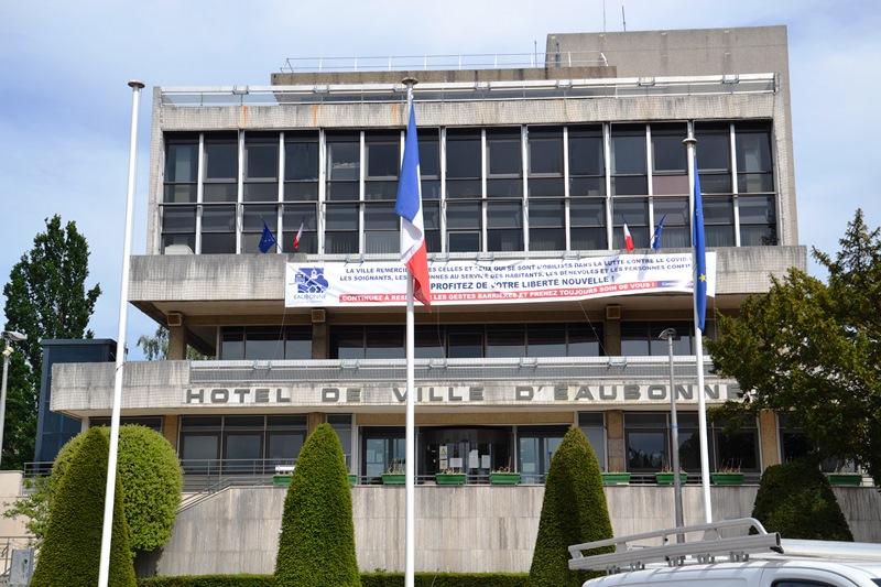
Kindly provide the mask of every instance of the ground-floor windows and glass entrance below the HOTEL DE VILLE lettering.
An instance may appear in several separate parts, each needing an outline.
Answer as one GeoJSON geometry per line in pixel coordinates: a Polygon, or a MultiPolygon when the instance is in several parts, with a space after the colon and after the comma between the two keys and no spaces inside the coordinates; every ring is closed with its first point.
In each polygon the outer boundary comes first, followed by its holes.
{"type": "MultiPolygon", "coordinates": [[[[379,482],[383,472],[403,469],[404,428],[361,426],[356,441],[350,414],[329,414],[327,422],[342,445],[347,466],[366,482],[379,482]],[[358,443],[359,446],[355,446],[358,443]],[[360,467],[351,468],[352,450],[360,467]]],[[[160,417],[122,418],[123,424],[141,424],[161,430],[160,417]]],[[[687,472],[700,470],[698,416],[679,412],[679,464],[687,472]]],[[[90,425],[109,425],[109,418],[93,418],[90,425]]],[[[607,468],[606,422],[602,413],[578,414],[578,426],[590,442],[600,467],[607,468]]],[[[628,412],[624,414],[627,470],[655,472],[668,467],[672,458],[670,413],[628,412]]],[[[523,482],[541,482],[551,458],[566,434],[567,426],[420,426],[417,474],[422,477],[457,468],[475,477],[513,466],[523,482]]],[[[780,418],[781,456],[784,461],[811,450],[802,431],[780,418]]],[[[307,436],[306,415],[182,416],[178,456],[187,474],[269,475],[278,465],[293,464],[307,436]]],[[[724,422],[708,423],[710,467],[737,467],[744,472],[760,471],[759,428],[754,421],[736,431],[724,422]]],[[[831,468],[829,468],[831,470],[831,468]]]]}

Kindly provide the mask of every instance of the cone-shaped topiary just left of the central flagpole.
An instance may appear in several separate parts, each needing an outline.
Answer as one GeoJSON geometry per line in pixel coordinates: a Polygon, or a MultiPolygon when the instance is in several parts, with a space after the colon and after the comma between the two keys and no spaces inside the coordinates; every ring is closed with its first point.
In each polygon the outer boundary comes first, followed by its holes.
{"type": "Polygon", "coordinates": [[[273,585],[361,585],[349,474],[329,424],[309,435],[291,475],[273,585]]]}

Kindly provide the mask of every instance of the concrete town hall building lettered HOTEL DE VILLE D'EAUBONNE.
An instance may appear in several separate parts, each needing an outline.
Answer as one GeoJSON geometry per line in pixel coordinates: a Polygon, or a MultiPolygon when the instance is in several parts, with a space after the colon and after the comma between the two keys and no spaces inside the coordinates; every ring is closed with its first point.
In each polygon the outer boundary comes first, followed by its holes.
{"type": "MultiPolygon", "coordinates": [[[[403,492],[379,486],[404,456],[394,199],[409,113],[402,80],[412,77],[436,296],[431,313],[416,312],[421,502],[467,515],[479,489],[481,500],[512,500],[490,511],[515,526],[513,504],[540,500],[570,426],[603,470],[631,472],[619,503],[628,491],[643,499],[671,463],[674,390],[681,461],[687,485],[698,482],[683,141],[697,140],[715,269],[706,335],[715,336],[714,312],[736,313],[773,275],[806,269],[787,61],[784,26],[552,34],[530,66],[426,59],[394,70],[292,69],[265,87],[153,88],[146,252],[131,258],[129,300],[167,326],[168,360],[127,363],[123,422],[161,430],[194,490],[269,478],[330,423],[358,477],[362,567],[401,568],[402,558],[365,553],[383,540],[368,526],[384,498],[403,503],[403,492]],[[261,253],[264,226],[279,246],[261,253]],[[672,361],[659,338],[667,328],[677,334],[672,361]],[[213,359],[185,360],[187,346],[213,359]],[[521,486],[490,486],[500,468],[520,472],[521,486]],[[440,504],[429,493],[449,469],[486,487],[445,489],[440,504]]],[[[705,359],[708,405],[738,398],[737,382],[709,367],[705,359]]],[[[54,411],[84,426],[107,422],[111,365],[53,372],[54,411]]],[[[722,424],[709,423],[710,466],[736,464],[748,480],[801,446],[774,414],[736,433],[722,424]]],[[[476,569],[448,555],[460,539],[440,540],[439,558],[420,568],[476,569]]],[[[508,567],[486,561],[479,569],[508,567]]]]}

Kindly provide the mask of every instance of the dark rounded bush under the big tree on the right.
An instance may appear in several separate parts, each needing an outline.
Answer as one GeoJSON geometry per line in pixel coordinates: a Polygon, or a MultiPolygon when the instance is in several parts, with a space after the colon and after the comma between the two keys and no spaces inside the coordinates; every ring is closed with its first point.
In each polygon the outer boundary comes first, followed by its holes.
{"type": "Polygon", "coordinates": [[[829,480],[811,460],[768,467],[752,517],[784,539],[853,541],[829,480]]]}

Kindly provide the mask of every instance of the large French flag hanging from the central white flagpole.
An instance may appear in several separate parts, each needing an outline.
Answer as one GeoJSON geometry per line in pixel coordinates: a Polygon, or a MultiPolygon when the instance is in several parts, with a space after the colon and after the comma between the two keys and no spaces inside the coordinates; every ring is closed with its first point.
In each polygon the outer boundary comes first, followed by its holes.
{"type": "Polygon", "coordinates": [[[416,111],[412,104],[394,211],[401,217],[401,260],[413,275],[413,297],[422,302],[425,307],[431,308],[428,257],[425,252],[425,228],[422,221],[420,146],[416,135],[416,111]]]}

